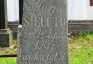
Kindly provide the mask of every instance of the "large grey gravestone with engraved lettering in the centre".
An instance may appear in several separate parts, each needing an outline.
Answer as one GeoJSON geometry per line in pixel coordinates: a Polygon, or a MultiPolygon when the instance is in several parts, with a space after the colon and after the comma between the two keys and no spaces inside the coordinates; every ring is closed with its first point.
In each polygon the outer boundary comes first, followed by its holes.
{"type": "Polygon", "coordinates": [[[68,64],[66,0],[24,0],[18,64],[68,64]]]}

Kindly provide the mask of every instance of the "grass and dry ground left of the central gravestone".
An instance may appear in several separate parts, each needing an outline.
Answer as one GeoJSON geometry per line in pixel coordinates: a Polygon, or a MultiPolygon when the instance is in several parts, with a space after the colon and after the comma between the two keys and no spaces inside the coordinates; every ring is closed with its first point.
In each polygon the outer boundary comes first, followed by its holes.
{"type": "MultiPolygon", "coordinates": [[[[0,48],[0,55],[16,54],[17,53],[17,40],[13,40],[13,45],[10,48],[0,48]]],[[[0,58],[0,64],[17,64],[16,58],[0,58]]]]}

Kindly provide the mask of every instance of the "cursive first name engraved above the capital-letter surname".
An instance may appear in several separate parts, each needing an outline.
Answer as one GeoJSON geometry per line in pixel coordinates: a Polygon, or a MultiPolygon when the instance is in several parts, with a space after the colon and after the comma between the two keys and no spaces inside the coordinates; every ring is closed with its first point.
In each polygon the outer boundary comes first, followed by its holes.
{"type": "MultiPolygon", "coordinates": [[[[24,8],[26,8],[26,10],[29,10],[29,12],[32,12],[33,14],[35,14],[38,11],[38,12],[48,13],[50,16],[52,16],[56,12],[61,13],[62,9],[64,8],[64,4],[62,3],[54,6],[52,4],[49,5],[42,4],[43,2],[44,0],[38,0],[37,2],[33,2],[33,3],[29,2],[29,4],[24,3],[24,8]]],[[[44,13],[40,13],[40,14],[44,14],[44,13]]]]}

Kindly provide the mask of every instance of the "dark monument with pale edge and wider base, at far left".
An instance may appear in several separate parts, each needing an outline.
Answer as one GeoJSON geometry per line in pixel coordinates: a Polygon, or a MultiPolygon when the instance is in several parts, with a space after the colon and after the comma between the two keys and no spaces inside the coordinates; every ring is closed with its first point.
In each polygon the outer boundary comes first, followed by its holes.
{"type": "Polygon", "coordinates": [[[0,1],[0,47],[9,47],[12,43],[12,32],[7,24],[6,0],[0,1]]]}

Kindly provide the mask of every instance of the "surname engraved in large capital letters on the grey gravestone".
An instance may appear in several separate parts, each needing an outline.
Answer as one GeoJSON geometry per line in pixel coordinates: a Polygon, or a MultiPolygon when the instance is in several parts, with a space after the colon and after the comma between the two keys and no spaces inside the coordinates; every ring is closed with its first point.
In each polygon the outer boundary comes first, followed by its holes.
{"type": "Polygon", "coordinates": [[[24,21],[23,26],[25,27],[62,27],[65,25],[66,19],[57,17],[26,17],[24,21]]]}

